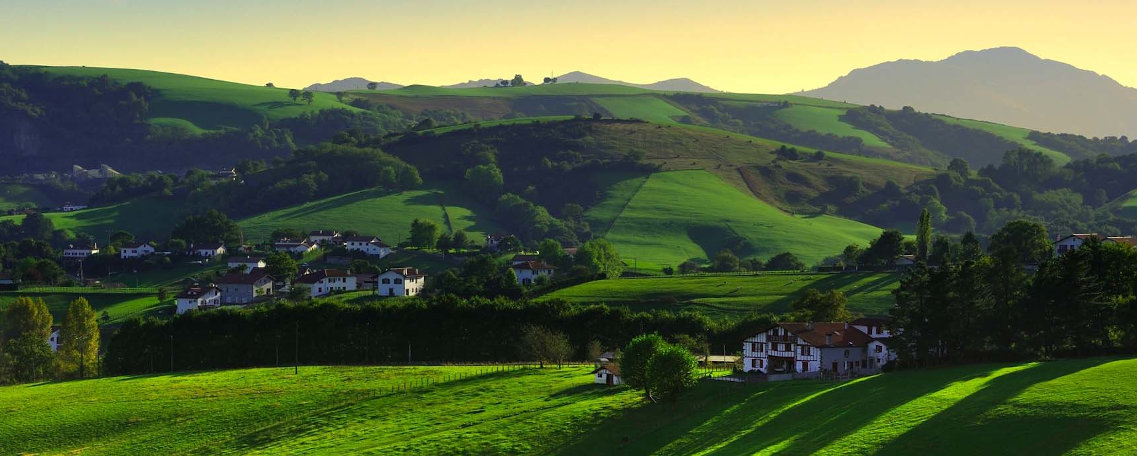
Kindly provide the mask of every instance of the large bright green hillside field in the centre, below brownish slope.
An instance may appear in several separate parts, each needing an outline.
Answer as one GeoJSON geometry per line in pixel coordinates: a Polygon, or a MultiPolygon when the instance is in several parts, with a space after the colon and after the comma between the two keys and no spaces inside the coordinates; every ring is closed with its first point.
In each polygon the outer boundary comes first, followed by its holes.
{"type": "Polygon", "coordinates": [[[794,216],[742,193],[705,171],[656,173],[614,222],[590,214],[620,255],[641,270],[706,262],[730,239],[748,241],[737,254],[769,258],[790,251],[807,264],[866,244],[880,229],[833,216],[794,216]]]}

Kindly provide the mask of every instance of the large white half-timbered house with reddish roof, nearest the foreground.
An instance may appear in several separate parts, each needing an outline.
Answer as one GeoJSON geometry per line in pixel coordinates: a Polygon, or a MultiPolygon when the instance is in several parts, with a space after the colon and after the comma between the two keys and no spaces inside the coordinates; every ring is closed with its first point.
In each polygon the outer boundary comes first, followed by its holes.
{"type": "Polygon", "coordinates": [[[742,371],[770,380],[878,373],[896,358],[886,342],[890,334],[869,335],[860,328],[882,326],[869,320],[858,323],[779,323],[742,342],[742,371]]]}

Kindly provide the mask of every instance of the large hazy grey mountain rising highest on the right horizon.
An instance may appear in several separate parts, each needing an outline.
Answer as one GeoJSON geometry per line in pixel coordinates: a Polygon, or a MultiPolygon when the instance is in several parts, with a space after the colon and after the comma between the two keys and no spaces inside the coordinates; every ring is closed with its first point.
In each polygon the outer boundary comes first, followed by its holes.
{"type": "Polygon", "coordinates": [[[1137,89],[1019,48],[883,63],[803,94],[1048,132],[1137,136],[1137,89]]]}

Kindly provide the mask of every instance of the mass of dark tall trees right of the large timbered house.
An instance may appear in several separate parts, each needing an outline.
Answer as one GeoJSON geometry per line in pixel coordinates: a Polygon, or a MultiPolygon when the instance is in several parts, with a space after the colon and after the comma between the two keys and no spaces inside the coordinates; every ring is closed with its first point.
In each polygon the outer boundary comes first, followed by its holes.
{"type": "Polygon", "coordinates": [[[894,342],[911,363],[1137,349],[1137,249],[1090,240],[1054,257],[1028,221],[996,232],[986,255],[918,264],[895,295],[894,342]]]}

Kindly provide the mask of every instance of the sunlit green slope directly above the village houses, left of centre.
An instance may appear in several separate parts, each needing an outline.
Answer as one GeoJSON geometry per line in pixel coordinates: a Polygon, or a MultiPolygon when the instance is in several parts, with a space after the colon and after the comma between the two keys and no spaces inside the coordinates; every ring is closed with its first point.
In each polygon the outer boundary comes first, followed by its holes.
{"type": "Polygon", "coordinates": [[[246,237],[267,241],[273,230],[355,230],[374,234],[396,244],[409,238],[410,222],[431,219],[455,231],[465,230],[480,241],[487,232],[500,231],[483,214],[485,209],[449,188],[434,186],[389,194],[380,190],[362,190],[325,198],[300,206],[273,210],[239,222],[246,237]]]}

